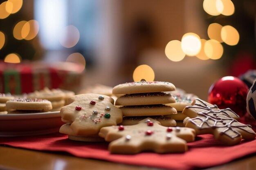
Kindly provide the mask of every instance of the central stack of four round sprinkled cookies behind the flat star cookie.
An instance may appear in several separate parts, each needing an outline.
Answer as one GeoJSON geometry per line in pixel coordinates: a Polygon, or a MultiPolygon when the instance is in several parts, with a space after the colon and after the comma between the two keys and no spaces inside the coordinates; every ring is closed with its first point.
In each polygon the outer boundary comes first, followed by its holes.
{"type": "Polygon", "coordinates": [[[137,124],[142,119],[152,117],[163,126],[176,126],[175,120],[166,116],[176,114],[176,109],[165,105],[175,103],[175,98],[165,91],[175,91],[175,86],[169,82],[146,82],[144,79],[115,86],[113,94],[125,94],[115,102],[124,115],[121,124],[137,124]]]}

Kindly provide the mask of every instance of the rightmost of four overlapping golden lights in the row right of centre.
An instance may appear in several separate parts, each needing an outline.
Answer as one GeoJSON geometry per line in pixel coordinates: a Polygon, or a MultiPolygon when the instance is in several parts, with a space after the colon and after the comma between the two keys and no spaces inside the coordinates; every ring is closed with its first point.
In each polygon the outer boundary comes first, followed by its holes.
{"type": "Polygon", "coordinates": [[[216,40],[207,40],[204,44],[204,52],[210,59],[218,60],[223,54],[223,46],[216,40]]]}

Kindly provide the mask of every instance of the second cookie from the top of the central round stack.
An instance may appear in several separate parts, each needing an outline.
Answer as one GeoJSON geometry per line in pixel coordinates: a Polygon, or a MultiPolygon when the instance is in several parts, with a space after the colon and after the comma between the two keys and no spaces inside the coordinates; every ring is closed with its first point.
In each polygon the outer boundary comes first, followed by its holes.
{"type": "Polygon", "coordinates": [[[135,106],[135,105],[150,105],[150,104],[167,104],[175,103],[175,98],[171,94],[156,92],[156,93],[136,93],[126,94],[119,97],[115,105],[135,106]]]}

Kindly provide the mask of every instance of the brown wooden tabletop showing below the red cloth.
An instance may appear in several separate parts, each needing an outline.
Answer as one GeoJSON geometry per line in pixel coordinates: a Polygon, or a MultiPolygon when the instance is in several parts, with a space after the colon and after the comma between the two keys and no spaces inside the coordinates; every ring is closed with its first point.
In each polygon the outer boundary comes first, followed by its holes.
{"type": "MultiPolygon", "coordinates": [[[[232,154],[232,153],[231,153],[232,154]]],[[[0,146],[0,170],[158,170],[95,159],[63,152],[40,152],[0,146]]],[[[207,170],[255,170],[256,154],[207,170]]]]}

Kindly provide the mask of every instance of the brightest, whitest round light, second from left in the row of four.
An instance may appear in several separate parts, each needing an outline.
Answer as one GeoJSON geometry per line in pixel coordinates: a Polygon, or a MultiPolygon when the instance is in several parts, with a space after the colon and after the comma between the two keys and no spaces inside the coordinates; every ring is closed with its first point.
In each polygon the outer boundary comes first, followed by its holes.
{"type": "Polygon", "coordinates": [[[194,56],[201,49],[200,37],[195,33],[186,33],[181,40],[181,48],[186,55],[194,56]]]}

